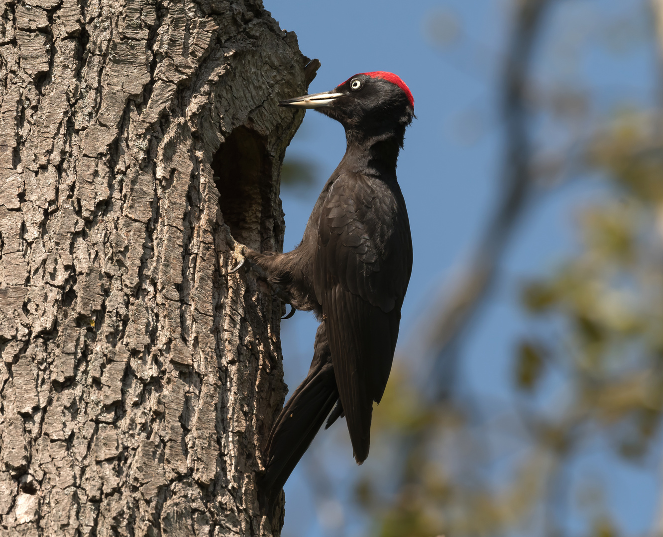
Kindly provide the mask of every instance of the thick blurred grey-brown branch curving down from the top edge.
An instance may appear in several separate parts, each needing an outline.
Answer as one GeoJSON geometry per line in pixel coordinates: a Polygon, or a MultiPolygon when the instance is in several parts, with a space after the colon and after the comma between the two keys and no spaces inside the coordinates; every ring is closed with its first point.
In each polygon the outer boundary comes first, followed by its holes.
{"type": "MultiPolygon", "coordinates": [[[[434,324],[432,350],[438,362],[455,360],[454,343],[479,309],[499,269],[507,244],[518,219],[530,199],[534,185],[532,177],[532,148],[528,136],[527,88],[530,60],[539,30],[551,0],[522,0],[516,2],[514,28],[502,83],[502,117],[505,124],[505,158],[501,172],[501,189],[495,213],[479,240],[471,261],[453,282],[450,296],[440,309],[434,324]]],[[[442,366],[444,379],[436,375],[434,381],[442,383],[438,397],[446,395],[452,384],[454,367],[442,366]],[[451,373],[451,374],[450,374],[451,373]]]]}

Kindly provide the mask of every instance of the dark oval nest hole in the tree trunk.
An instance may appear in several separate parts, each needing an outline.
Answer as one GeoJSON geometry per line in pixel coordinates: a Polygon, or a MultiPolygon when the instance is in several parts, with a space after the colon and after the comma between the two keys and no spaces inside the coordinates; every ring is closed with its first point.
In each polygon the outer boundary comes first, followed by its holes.
{"type": "Polygon", "coordinates": [[[261,224],[264,209],[271,205],[272,189],[272,161],[265,138],[246,127],[235,128],[214,155],[211,169],[223,221],[235,240],[259,248],[267,236],[261,224]]]}

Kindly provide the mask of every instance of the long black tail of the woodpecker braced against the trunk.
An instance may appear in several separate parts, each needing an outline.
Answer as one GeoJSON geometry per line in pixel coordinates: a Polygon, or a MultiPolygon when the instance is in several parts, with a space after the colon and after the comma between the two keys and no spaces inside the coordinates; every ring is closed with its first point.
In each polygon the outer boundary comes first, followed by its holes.
{"type": "Polygon", "coordinates": [[[337,401],[329,344],[321,323],[308,375],[278,415],[267,441],[267,471],[260,487],[270,517],[283,485],[337,401]]]}

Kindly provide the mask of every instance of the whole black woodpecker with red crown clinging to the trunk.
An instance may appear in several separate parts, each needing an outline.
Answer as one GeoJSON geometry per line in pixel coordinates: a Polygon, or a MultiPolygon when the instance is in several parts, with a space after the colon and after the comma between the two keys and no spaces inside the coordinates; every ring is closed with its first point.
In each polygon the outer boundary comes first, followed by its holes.
{"type": "Polygon", "coordinates": [[[237,252],[284,289],[294,308],[320,320],[308,375],[269,435],[261,489],[270,506],[328,415],[327,427],[345,415],[355,460],[366,460],[373,401],[387,385],[412,271],[410,224],[396,181],[398,151],[414,117],[410,89],[393,73],[359,73],[332,91],[279,105],[341,122],[347,149],[299,246],[286,254],[237,252]]]}

